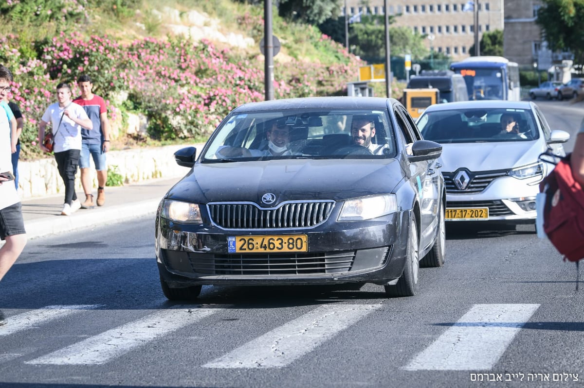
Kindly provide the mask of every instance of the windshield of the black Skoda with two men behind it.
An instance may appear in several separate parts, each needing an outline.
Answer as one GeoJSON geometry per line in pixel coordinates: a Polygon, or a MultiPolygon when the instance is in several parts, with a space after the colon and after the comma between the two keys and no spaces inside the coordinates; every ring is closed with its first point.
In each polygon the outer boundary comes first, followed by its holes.
{"type": "Polygon", "coordinates": [[[380,110],[239,111],[215,129],[200,160],[388,158],[395,156],[394,133],[380,110]]]}

